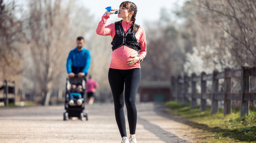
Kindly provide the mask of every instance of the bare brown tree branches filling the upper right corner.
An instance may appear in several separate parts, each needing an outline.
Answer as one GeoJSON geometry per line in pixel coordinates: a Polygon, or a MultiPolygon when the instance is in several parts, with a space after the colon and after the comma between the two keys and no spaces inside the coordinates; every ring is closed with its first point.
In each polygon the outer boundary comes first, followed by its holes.
{"type": "MultiPolygon", "coordinates": [[[[225,46],[231,46],[230,50],[235,57],[234,61],[238,65],[245,62],[251,66],[256,65],[255,0],[195,0],[192,4],[195,9],[204,11],[197,13],[197,16],[205,21],[212,21],[219,26],[216,29],[222,35],[214,39],[225,41],[225,46]]],[[[220,45],[220,47],[223,46],[220,45]]]]}

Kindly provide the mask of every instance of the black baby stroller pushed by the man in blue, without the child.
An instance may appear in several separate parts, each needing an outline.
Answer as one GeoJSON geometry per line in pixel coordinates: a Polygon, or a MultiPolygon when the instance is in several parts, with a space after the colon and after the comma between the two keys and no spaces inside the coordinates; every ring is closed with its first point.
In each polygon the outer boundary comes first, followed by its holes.
{"type": "Polygon", "coordinates": [[[69,78],[67,77],[66,79],[66,95],[65,95],[65,110],[66,112],[63,113],[64,120],[69,120],[72,117],[77,117],[81,120],[88,120],[88,114],[87,112],[84,113],[83,110],[85,108],[85,89],[86,89],[86,77],[78,77],[77,74],[75,74],[75,77],[69,78]],[[80,84],[82,85],[82,90],[80,90],[81,96],[82,96],[82,104],[78,105],[77,104],[77,99],[74,98],[74,105],[71,106],[69,105],[69,96],[70,93],[72,92],[71,90],[71,85],[77,85],[80,84]]]}

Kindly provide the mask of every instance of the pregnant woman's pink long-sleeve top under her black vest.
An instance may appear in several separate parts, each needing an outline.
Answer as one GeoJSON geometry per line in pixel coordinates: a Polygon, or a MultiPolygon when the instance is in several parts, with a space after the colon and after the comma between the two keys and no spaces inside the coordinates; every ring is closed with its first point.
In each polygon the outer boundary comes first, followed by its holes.
{"type": "MultiPolygon", "coordinates": [[[[115,23],[109,24],[107,26],[106,22],[109,19],[110,14],[105,13],[102,17],[101,17],[101,21],[98,24],[98,27],[96,29],[96,33],[98,35],[103,35],[103,36],[107,36],[110,35],[112,37],[112,39],[114,38],[115,34],[116,34],[116,28],[115,28],[115,23]]],[[[122,21],[122,27],[124,32],[126,33],[127,30],[132,26],[132,22],[125,22],[122,21]]],[[[119,70],[128,70],[128,69],[134,69],[134,68],[140,68],[140,64],[137,62],[132,66],[127,65],[127,60],[132,59],[131,56],[140,56],[143,60],[143,58],[146,56],[147,54],[147,48],[146,48],[146,37],[145,37],[145,31],[144,28],[139,26],[138,31],[135,34],[135,37],[137,39],[137,41],[139,42],[139,46],[140,46],[140,50],[139,50],[139,54],[136,50],[127,47],[125,45],[122,45],[120,47],[118,47],[117,49],[115,49],[112,52],[112,59],[111,59],[111,63],[110,63],[110,67],[111,69],[119,69],[119,70]]]]}

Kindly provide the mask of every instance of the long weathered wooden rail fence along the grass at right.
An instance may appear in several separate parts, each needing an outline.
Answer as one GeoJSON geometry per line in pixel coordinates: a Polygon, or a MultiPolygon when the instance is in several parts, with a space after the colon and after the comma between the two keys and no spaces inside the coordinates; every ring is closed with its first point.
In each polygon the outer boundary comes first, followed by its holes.
{"type": "Polygon", "coordinates": [[[223,72],[214,70],[212,74],[202,72],[200,76],[192,74],[191,77],[181,76],[172,77],[170,96],[171,99],[177,99],[177,102],[188,104],[191,98],[191,108],[197,106],[197,99],[200,99],[200,110],[206,110],[206,99],[211,99],[211,113],[218,112],[218,101],[224,101],[224,115],[231,113],[231,100],[241,101],[240,116],[248,115],[249,101],[256,100],[256,92],[250,92],[250,77],[256,75],[256,67],[249,67],[245,64],[241,69],[231,70],[225,68],[223,72]],[[241,91],[231,92],[231,78],[241,78],[241,91]],[[219,79],[224,79],[224,92],[219,92],[219,79]],[[206,92],[206,81],[212,82],[211,92],[206,92]],[[201,93],[197,92],[196,84],[200,83],[201,93]],[[190,92],[188,88],[190,87],[190,92]]]}

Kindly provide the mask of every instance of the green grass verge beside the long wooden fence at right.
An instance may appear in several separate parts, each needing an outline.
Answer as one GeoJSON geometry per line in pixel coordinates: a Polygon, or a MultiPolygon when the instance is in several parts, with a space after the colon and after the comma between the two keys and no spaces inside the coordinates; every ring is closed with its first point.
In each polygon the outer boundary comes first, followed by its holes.
{"type": "Polygon", "coordinates": [[[249,116],[240,119],[240,111],[224,116],[223,110],[211,114],[210,108],[200,112],[200,108],[191,109],[190,105],[182,105],[176,101],[166,102],[169,113],[185,118],[195,132],[197,143],[256,143],[256,112],[250,111],[249,116]]]}

